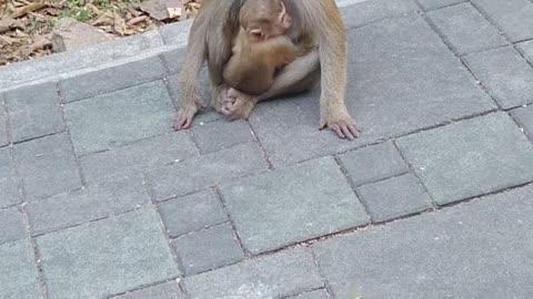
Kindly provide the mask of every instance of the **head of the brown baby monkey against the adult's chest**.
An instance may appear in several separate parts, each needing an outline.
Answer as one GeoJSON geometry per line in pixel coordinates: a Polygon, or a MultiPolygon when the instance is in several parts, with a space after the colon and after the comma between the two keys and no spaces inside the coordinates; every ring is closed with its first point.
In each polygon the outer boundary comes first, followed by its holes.
{"type": "Polygon", "coordinates": [[[239,14],[251,41],[282,35],[292,24],[282,0],[247,0],[239,14]]]}

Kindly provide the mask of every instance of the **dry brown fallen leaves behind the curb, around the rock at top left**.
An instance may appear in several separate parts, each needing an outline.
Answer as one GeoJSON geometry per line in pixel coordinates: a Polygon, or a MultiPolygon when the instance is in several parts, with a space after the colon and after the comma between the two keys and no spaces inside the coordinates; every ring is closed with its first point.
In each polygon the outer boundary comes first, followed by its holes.
{"type": "Polygon", "coordinates": [[[0,0],[0,65],[52,52],[51,32],[69,17],[113,37],[192,18],[201,0],[0,0]]]}

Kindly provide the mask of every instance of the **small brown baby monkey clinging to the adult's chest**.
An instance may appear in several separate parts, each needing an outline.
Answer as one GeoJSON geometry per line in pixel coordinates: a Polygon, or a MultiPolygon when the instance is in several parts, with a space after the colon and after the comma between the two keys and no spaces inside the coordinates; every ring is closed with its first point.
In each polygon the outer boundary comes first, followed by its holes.
{"type": "Polygon", "coordinates": [[[241,29],[234,38],[223,79],[240,92],[262,94],[272,86],[275,72],[303,51],[284,35],[292,18],[281,0],[247,0],[239,21],[241,29]]]}

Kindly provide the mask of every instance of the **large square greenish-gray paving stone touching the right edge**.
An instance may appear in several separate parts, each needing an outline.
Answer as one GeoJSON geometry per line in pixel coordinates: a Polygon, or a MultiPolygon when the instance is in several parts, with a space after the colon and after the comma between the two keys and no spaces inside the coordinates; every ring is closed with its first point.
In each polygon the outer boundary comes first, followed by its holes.
{"type": "Polygon", "coordinates": [[[398,141],[440,205],[533,181],[533,146],[505,113],[398,141]]]}

